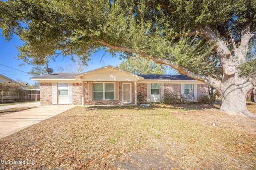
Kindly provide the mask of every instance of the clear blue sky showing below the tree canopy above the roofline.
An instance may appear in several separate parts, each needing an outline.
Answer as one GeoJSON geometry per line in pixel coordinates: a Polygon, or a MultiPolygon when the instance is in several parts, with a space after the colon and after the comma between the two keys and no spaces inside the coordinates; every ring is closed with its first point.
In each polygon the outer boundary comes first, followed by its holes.
{"type": "MultiPolygon", "coordinates": [[[[0,74],[3,74],[4,76],[13,80],[21,78],[23,81],[28,82],[30,85],[34,84],[34,80],[30,80],[31,75],[26,74],[26,72],[30,71],[32,66],[28,64],[25,64],[24,66],[18,66],[23,62],[17,59],[18,50],[16,49],[15,45],[22,45],[22,41],[18,39],[16,35],[14,35],[11,41],[5,43],[5,39],[2,37],[1,32],[2,30],[0,29],[0,74]]],[[[88,71],[107,65],[116,66],[122,62],[118,59],[118,57],[113,58],[106,54],[104,55],[103,62],[100,63],[103,54],[104,51],[100,51],[92,55],[92,60],[88,62],[88,71]]],[[[63,60],[63,57],[60,56],[56,59],[55,62],[50,62],[48,66],[54,69],[57,65],[65,66],[71,62],[72,61],[70,60],[70,57],[66,57],[63,60]]]]}

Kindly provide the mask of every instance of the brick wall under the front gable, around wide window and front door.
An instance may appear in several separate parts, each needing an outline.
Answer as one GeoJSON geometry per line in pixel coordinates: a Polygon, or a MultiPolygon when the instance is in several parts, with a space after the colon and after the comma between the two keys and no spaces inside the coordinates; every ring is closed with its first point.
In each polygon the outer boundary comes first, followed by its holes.
{"type": "MultiPolygon", "coordinates": [[[[112,82],[116,83],[116,82],[112,82]]],[[[84,84],[84,104],[85,105],[118,105],[122,103],[122,83],[131,83],[132,84],[132,103],[135,102],[134,96],[134,82],[118,82],[119,83],[119,99],[118,100],[88,100],[89,97],[89,86],[88,82],[84,84]]]]}

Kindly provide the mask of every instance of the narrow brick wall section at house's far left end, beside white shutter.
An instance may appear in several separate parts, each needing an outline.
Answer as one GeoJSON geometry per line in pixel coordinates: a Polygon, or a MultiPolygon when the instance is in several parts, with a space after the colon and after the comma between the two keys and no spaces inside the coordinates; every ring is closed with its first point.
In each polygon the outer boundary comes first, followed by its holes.
{"type": "Polygon", "coordinates": [[[40,105],[52,105],[52,83],[40,83],[40,105]]]}

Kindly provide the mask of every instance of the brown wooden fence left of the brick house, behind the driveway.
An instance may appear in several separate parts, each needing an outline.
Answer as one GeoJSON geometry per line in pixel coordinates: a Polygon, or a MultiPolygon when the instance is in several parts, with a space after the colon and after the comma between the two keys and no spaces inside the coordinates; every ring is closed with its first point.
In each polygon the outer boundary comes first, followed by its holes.
{"type": "Polygon", "coordinates": [[[19,102],[24,100],[40,101],[40,91],[0,89],[0,103],[19,102]]]}

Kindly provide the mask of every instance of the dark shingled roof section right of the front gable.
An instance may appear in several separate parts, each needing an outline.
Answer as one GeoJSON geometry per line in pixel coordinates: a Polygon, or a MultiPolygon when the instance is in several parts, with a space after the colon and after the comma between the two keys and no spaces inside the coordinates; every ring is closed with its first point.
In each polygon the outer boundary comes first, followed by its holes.
{"type": "Polygon", "coordinates": [[[145,80],[195,80],[186,75],[168,75],[168,74],[139,74],[145,80]]]}

